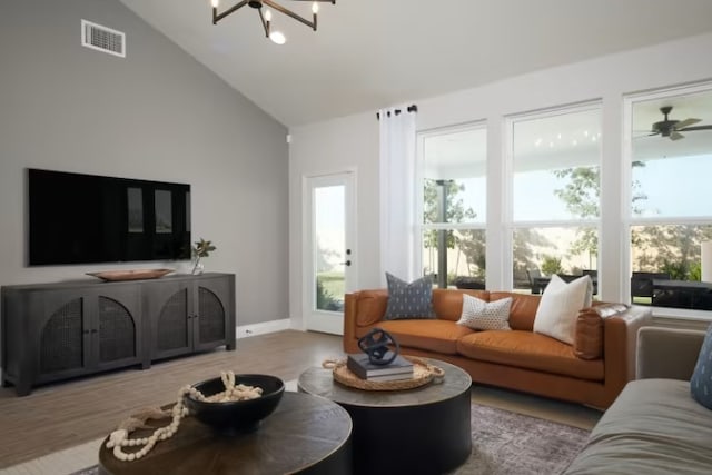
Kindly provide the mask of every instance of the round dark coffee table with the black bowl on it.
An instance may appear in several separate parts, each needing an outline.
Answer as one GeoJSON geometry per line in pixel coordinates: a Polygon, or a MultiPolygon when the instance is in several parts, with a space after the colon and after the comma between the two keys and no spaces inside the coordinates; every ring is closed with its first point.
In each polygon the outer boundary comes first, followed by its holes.
{"type": "Polygon", "coordinates": [[[337,404],[285,393],[277,409],[251,433],[224,436],[195,417],[186,417],[176,435],[136,462],[115,458],[105,439],[99,449],[99,473],[350,474],[350,417],[337,404]]]}

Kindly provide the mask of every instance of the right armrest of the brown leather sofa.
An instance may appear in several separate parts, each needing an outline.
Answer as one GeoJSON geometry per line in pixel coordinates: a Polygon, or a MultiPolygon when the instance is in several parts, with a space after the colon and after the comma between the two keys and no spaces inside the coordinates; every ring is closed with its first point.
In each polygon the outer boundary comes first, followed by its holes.
{"type": "Polygon", "coordinates": [[[651,325],[652,319],[651,309],[642,306],[632,306],[604,319],[604,385],[610,402],[635,378],[637,330],[651,325]]]}

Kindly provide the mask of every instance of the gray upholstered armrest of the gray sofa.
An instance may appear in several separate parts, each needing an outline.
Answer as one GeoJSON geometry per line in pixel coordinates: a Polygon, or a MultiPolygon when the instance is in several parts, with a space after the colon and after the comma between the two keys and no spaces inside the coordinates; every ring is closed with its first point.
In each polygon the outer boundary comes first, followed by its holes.
{"type": "Polygon", "coordinates": [[[704,331],[643,327],[637,334],[636,379],[690,380],[704,331]]]}

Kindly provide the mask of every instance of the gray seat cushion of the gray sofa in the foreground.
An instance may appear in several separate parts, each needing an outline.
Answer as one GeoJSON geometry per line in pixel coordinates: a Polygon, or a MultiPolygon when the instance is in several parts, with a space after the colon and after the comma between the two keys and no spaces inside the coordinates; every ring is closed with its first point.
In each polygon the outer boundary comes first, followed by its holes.
{"type": "Polygon", "coordinates": [[[629,383],[564,472],[573,474],[709,474],[712,413],[690,397],[688,382],[629,383]]]}

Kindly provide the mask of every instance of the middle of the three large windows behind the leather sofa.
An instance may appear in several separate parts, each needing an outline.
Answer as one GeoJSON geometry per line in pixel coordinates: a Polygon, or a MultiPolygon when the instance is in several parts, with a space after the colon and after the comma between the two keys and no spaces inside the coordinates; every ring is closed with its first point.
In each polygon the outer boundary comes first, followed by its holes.
{"type": "Polygon", "coordinates": [[[511,120],[512,285],[538,294],[553,274],[597,287],[599,105],[511,120]]]}

